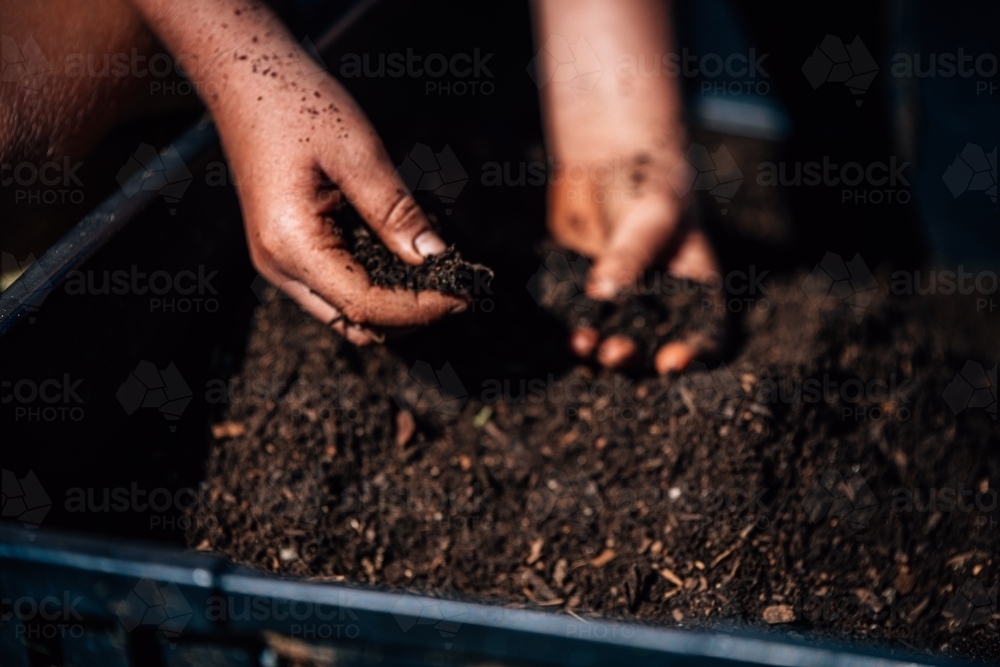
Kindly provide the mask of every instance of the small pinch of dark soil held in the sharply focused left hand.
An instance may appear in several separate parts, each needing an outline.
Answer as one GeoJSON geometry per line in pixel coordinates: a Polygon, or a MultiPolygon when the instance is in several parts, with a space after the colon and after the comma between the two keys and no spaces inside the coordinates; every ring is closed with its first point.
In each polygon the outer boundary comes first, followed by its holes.
{"type": "Polygon", "coordinates": [[[428,255],[419,266],[411,266],[363,225],[352,225],[344,234],[354,258],[365,267],[372,285],[377,287],[462,296],[489,287],[493,279],[492,269],[465,261],[454,245],[439,255],[428,255]]]}

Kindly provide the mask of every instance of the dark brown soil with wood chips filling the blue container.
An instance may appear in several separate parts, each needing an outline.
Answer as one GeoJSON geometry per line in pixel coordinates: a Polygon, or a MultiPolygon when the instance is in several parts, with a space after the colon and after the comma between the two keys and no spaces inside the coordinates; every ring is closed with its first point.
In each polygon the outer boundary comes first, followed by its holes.
{"type": "Polygon", "coordinates": [[[565,352],[521,279],[549,252],[508,258],[508,282],[491,261],[489,312],[386,347],[261,306],[189,543],[581,616],[1000,657],[995,412],[942,397],[993,368],[995,316],[890,295],[884,271],[859,315],[788,272],[725,364],[626,376],[565,352]]]}

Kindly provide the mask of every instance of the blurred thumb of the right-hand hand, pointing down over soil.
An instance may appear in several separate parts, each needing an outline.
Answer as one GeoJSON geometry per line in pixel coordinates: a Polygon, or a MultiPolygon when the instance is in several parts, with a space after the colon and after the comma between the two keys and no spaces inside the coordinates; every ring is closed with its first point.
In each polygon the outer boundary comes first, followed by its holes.
{"type": "Polygon", "coordinates": [[[637,199],[615,228],[591,269],[587,293],[612,299],[656,260],[677,230],[680,204],[663,195],[637,199]]]}

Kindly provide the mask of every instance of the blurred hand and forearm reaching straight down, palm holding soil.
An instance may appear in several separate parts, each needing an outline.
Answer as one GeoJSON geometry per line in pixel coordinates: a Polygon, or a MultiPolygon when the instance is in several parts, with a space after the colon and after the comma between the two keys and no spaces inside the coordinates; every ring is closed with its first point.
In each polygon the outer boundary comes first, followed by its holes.
{"type": "MultiPolygon", "coordinates": [[[[556,166],[549,228],[560,245],[593,259],[587,291],[596,299],[627,294],[649,269],[700,283],[718,269],[707,237],[685,215],[688,202],[672,185],[683,181],[678,170],[687,163],[677,82],[659,69],[672,48],[664,4],[536,3],[538,76],[556,166]],[[570,56],[573,68],[565,64],[570,56]]],[[[706,292],[705,304],[722,317],[718,297],[706,292]]],[[[596,330],[577,329],[570,345],[609,367],[637,361],[625,336],[601,340],[596,330]]],[[[720,346],[705,336],[668,342],[655,356],[656,370],[683,371],[720,346]]]]}

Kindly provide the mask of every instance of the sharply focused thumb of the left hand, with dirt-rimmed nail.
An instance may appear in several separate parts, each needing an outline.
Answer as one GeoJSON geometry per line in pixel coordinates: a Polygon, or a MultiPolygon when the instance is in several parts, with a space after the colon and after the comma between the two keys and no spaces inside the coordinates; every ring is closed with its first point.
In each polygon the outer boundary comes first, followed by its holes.
{"type": "MultiPolygon", "coordinates": [[[[363,117],[360,122],[368,125],[363,117]]],[[[438,255],[447,246],[431,229],[381,140],[374,130],[371,132],[365,141],[337,146],[321,160],[321,166],[328,174],[337,175],[338,187],[389,250],[407,264],[421,264],[425,257],[438,255]],[[345,151],[350,165],[346,169],[345,151]]]]}

